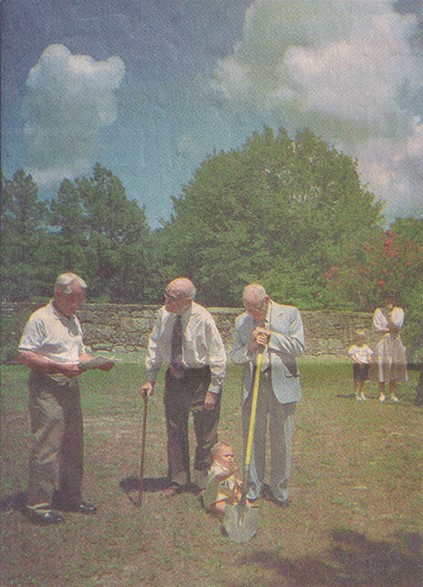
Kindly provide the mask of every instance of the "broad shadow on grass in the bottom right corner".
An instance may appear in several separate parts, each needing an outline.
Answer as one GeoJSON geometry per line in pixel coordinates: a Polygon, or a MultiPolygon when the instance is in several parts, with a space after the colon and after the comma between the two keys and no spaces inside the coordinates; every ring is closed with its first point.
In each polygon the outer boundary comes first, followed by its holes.
{"type": "Polygon", "coordinates": [[[263,576],[267,587],[421,587],[421,550],[422,537],[417,533],[376,542],[358,532],[334,530],[324,560],[310,556],[290,560],[259,551],[239,562],[271,571],[269,582],[263,576]]]}

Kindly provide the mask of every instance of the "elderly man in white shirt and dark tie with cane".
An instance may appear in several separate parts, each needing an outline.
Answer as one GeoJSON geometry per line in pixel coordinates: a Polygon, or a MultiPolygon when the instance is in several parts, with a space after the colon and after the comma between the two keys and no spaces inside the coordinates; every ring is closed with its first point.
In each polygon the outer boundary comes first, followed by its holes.
{"type": "Polygon", "coordinates": [[[163,494],[172,497],[186,490],[191,481],[190,413],[196,438],[195,482],[199,489],[205,487],[210,451],[217,442],[226,353],[213,317],[194,302],[195,287],[189,279],[180,277],[169,283],[165,298],[148,342],[147,381],[141,392],[153,394],[157,374],[165,364],[168,487],[163,494]]]}

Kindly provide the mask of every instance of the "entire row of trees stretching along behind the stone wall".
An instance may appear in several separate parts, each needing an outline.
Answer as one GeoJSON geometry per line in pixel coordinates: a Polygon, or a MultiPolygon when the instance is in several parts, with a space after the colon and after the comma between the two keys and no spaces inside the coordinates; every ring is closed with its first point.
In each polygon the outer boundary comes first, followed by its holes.
{"type": "Polygon", "coordinates": [[[3,300],[45,298],[63,271],[86,279],[91,300],[121,303],[159,303],[177,276],[216,306],[239,306],[252,281],[302,309],[371,310],[389,288],[421,328],[423,220],[386,230],[356,161],[308,130],[266,127],[213,152],[154,231],[99,163],[52,200],[23,170],[2,175],[2,196],[3,300]]]}

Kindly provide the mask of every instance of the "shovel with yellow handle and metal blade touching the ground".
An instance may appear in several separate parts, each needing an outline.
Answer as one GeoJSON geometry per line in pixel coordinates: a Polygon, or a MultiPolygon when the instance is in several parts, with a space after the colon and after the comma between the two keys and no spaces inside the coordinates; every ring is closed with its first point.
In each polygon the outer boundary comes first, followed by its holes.
{"type": "Polygon", "coordinates": [[[263,351],[257,355],[257,366],[254,377],[253,399],[251,403],[250,423],[248,428],[247,451],[245,454],[242,494],[239,503],[226,504],[223,527],[233,542],[248,542],[257,532],[260,521],[258,507],[247,505],[247,493],[251,484],[251,455],[253,452],[254,428],[256,424],[257,398],[260,385],[261,363],[263,351]]]}

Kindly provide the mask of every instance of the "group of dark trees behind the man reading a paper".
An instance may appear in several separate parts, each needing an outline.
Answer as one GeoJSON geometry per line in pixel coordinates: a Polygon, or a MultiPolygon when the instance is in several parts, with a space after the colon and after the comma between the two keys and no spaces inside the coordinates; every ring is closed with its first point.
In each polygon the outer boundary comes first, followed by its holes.
{"type": "Polygon", "coordinates": [[[97,164],[89,178],[65,179],[49,205],[31,176],[2,178],[2,298],[49,295],[58,273],[74,271],[93,297],[143,300],[150,272],[145,210],[97,164]]]}

